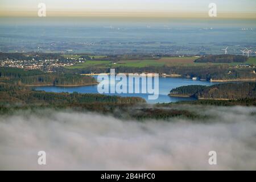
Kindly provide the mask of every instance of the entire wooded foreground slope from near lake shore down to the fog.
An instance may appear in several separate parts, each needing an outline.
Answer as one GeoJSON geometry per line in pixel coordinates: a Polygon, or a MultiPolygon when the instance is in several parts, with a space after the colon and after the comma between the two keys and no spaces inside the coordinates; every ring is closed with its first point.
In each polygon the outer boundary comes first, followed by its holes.
{"type": "Polygon", "coordinates": [[[169,119],[173,117],[203,119],[204,115],[188,110],[148,107],[139,97],[104,96],[100,94],[47,93],[24,86],[0,84],[0,114],[17,110],[42,109],[92,111],[123,119],[169,119]]]}

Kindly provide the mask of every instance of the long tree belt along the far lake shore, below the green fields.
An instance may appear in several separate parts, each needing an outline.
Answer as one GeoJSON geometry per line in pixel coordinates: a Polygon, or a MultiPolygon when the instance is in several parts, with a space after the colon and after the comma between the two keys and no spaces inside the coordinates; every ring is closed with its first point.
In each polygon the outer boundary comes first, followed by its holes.
{"type": "MultiPolygon", "coordinates": [[[[109,73],[110,68],[88,67],[82,69],[63,69],[61,72],[76,74],[76,73],[109,73]]],[[[172,67],[117,67],[116,73],[166,73],[167,75],[177,74],[181,77],[198,77],[208,80],[256,80],[256,74],[253,72],[255,68],[230,68],[229,65],[194,65],[194,66],[172,66],[172,67]]]]}

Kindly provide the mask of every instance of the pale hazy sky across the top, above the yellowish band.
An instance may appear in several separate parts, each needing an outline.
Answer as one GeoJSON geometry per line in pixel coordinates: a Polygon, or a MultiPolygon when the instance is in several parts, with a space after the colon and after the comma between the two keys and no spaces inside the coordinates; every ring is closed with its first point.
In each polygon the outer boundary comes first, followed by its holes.
{"type": "MultiPolygon", "coordinates": [[[[37,15],[38,3],[47,6],[47,12],[55,15],[94,14],[208,14],[209,3],[216,3],[220,13],[251,14],[256,11],[255,0],[1,0],[1,15],[37,15]],[[67,12],[68,11],[68,12],[67,12]],[[54,12],[54,13],[53,13],[54,12]]],[[[253,16],[253,15],[251,15],[253,16]]]]}

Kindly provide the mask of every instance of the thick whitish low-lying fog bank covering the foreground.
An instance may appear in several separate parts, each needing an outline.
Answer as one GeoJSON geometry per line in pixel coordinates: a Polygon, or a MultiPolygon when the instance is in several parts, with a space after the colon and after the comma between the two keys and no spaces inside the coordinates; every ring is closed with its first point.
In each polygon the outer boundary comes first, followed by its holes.
{"type": "Polygon", "coordinates": [[[121,121],[43,110],[0,116],[0,169],[256,169],[256,107],[209,107],[209,121],[121,121]],[[38,151],[46,151],[44,166],[38,151]],[[217,165],[208,163],[217,152],[217,165]]]}

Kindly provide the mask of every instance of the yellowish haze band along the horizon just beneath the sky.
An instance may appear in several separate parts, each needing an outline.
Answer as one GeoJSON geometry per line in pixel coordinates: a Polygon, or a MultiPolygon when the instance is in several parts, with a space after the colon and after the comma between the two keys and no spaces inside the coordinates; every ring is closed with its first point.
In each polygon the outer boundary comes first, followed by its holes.
{"type": "MultiPolygon", "coordinates": [[[[38,11],[1,11],[0,17],[38,17],[38,11]]],[[[228,18],[228,19],[256,19],[256,13],[241,12],[218,12],[217,17],[209,17],[208,12],[189,12],[189,13],[166,13],[166,12],[131,12],[131,11],[47,11],[47,17],[106,17],[106,18],[228,18]]]]}

